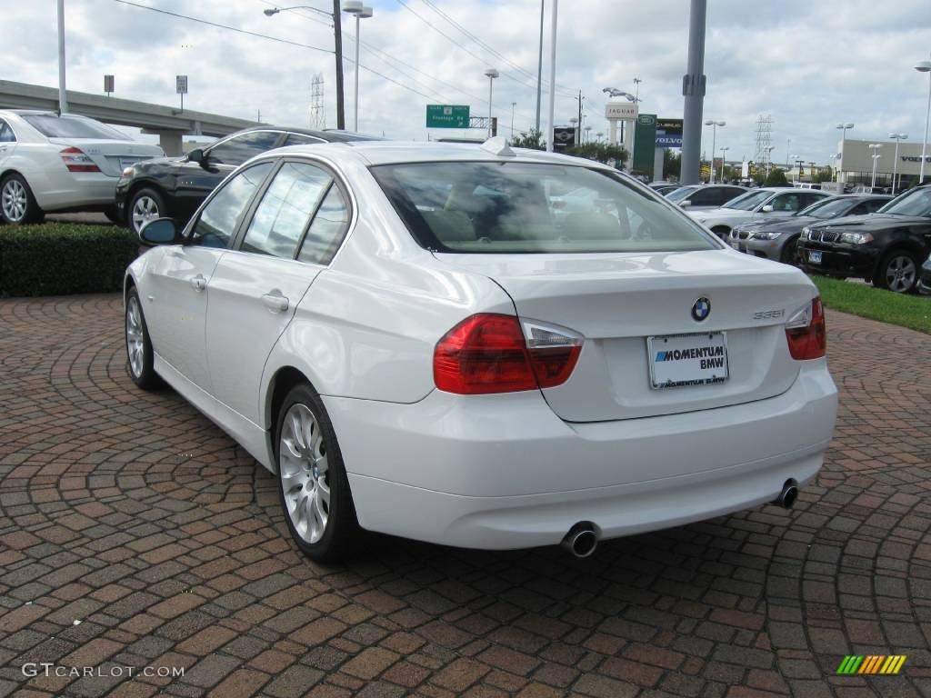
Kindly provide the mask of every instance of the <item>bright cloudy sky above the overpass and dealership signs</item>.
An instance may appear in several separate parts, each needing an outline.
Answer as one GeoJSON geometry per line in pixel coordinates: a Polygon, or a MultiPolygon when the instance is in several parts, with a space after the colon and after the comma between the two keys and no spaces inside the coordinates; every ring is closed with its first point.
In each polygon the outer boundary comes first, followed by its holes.
{"type": "MultiPolygon", "coordinates": [[[[333,34],[323,15],[295,10],[265,17],[272,0],[132,2],[307,47],[117,0],[65,0],[69,89],[101,92],[102,75],[110,73],[115,96],[175,104],[174,77],[188,74],[186,107],[252,119],[261,110],[263,122],[306,126],[310,83],[320,73],[327,126],[335,126],[333,34]]],[[[423,140],[427,103],[469,104],[472,114],[487,114],[488,67],[502,74],[493,98],[500,132],[509,132],[512,102],[515,130],[533,126],[540,0],[369,2],[374,17],[362,21],[359,130],[423,140]]],[[[331,0],[304,3],[332,8],[331,0]]],[[[0,6],[0,77],[57,86],[55,0],[0,0],[0,6]]],[[[563,0],[557,124],[575,114],[573,95],[581,89],[592,133],[607,131],[601,90],[632,91],[634,77],[643,81],[642,113],[681,116],[688,13],[688,0],[563,0]]],[[[355,27],[346,19],[351,124],[355,27]]],[[[753,156],[760,114],[772,115],[776,161],[788,148],[806,161],[827,162],[842,120],[856,123],[853,138],[887,141],[898,131],[921,141],[928,77],[912,66],[929,50],[927,0],[709,0],[705,118],[726,120],[717,144],[729,146],[729,158],[753,156]]],[[[706,128],[706,151],[710,135],[706,128]]]]}

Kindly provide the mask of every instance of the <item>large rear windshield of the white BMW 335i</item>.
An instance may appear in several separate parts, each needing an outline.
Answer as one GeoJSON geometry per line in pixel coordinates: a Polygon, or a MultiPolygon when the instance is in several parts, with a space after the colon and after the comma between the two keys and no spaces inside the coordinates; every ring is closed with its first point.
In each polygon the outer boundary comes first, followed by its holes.
{"type": "Polygon", "coordinates": [[[417,242],[440,252],[633,252],[719,246],[661,196],[596,169],[494,162],[371,168],[417,242]]]}

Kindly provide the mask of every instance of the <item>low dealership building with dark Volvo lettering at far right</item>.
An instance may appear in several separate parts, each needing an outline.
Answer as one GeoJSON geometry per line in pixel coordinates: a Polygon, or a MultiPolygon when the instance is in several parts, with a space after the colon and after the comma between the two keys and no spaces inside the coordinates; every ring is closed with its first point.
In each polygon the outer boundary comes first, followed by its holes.
{"type": "MultiPolygon", "coordinates": [[[[841,153],[841,143],[838,142],[838,153],[841,153]]],[[[897,185],[911,186],[918,182],[919,168],[922,162],[922,143],[901,141],[898,144],[898,158],[896,158],[896,141],[843,141],[843,157],[838,157],[834,165],[841,169],[848,184],[870,184],[872,181],[873,153],[879,154],[876,159],[876,186],[892,186],[892,173],[895,170],[897,185]],[[870,148],[870,145],[879,143],[880,148],[870,148]],[[901,182],[901,183],[899,183],[901,182]]],[[[924,181],[931,181],[931,145],[928,146],[924,157],[924,181]]]]}

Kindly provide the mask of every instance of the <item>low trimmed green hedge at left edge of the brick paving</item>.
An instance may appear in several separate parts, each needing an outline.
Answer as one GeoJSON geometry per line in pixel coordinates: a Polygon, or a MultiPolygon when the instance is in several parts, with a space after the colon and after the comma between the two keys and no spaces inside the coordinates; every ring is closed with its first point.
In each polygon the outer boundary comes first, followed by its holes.
{"type": "Polygon", "coordinates": [[[119,290],[139,247],[115,225],[0,225],[0,298],[119,290]]]}

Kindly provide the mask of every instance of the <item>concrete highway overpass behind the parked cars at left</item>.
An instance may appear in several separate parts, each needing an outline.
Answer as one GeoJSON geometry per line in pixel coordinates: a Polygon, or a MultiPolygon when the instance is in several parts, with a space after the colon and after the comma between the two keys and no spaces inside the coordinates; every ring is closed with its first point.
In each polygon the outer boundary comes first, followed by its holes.
{"type": "MultiPolygon", "coordinates": [[[[55,111],[59,106],[58,98],[58,89],[54,87],[0,80],[0,108],[55,111]]],[[[107,124],[142,128],[143,133],[156,134],[162,149],[169,155],[182,153],[183,135],[225,136],[256,124],[220,114],[187,109],[182,112],[162,104],[121,100],[71,89],[68,90],[68,111],[107,124]]]]}

